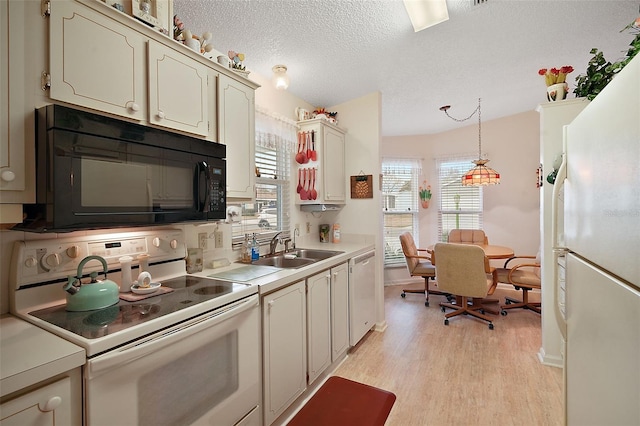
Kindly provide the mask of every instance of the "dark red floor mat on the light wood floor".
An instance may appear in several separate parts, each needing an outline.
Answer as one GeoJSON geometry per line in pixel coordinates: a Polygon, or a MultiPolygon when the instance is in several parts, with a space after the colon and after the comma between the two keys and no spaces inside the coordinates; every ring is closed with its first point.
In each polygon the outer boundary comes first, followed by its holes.
{"type": "Polygon", "coordinates": [[[329,377],[289,426],[384,425],[396,396],[342,377],[329,377]]]}

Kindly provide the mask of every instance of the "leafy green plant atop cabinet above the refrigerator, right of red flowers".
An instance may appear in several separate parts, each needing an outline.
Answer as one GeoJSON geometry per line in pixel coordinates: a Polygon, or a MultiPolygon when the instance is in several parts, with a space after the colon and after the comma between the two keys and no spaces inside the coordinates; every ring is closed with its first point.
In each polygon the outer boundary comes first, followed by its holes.
{"type": "Polygon", "coordinates": [[[589,53],[593,57],[589,60],[586,73],[576,77],[576,87],[573,90],[576,98],[586,97],[590,101],[593,100],[640,51],[640,18],[624,27],[620,32],[626,30],[631,30],[635,37],[629,44],[630,47],[626,55],[619,61],[609,62],[600,50],[595,47],[591,49],[589,53]]]}

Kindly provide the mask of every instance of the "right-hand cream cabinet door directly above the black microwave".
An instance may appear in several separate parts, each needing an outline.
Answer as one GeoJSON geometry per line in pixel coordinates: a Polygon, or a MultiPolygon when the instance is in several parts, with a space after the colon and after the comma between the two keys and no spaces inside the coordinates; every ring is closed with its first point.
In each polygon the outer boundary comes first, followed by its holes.
{"type": "Polygon", "coordinates": [[[207,136],[207,67],[154,40],[148,64],[149,122],[207,136]]]}

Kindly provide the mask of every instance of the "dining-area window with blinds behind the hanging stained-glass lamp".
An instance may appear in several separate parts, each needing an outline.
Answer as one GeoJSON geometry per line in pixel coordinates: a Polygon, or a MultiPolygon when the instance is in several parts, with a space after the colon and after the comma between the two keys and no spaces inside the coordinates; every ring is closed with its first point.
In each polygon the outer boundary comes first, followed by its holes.
{"type": "Polygon", "coordinates": [[[462,176],[473,167],[473,159],[469,156],[437,161],[440,241],[447,241],[452,229],[482,229],[482,187],[462,186],[462,176]]]}

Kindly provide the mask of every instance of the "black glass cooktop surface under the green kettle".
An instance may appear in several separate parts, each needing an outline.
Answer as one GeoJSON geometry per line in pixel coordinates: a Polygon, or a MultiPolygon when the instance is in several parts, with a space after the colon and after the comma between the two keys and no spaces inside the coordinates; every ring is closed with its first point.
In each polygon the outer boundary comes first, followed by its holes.
{"type": "Polygon", "coordinates": [[[161,284],[174,291],[137,302],[121,299],[115,305],[93,311],[69,312],[62,304],[29,315],[84,338],[96,339],[247,288],[246,284],[191,275],[164,280],[161,284]]]}

